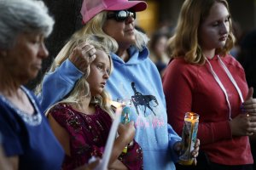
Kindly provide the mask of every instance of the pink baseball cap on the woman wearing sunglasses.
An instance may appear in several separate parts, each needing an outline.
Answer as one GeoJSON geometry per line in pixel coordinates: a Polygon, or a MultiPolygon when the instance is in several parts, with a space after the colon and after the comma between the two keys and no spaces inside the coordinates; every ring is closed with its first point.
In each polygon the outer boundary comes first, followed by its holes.
{"type": "Polygon", "coordinates": [[[147,8],[147,3],[144,1],[129,1],[129,0],[84,0],[81,8],[84,24],[99,14],[103,10],[123,10],[131,8],[135,12],[143,11],[147,8]]]}

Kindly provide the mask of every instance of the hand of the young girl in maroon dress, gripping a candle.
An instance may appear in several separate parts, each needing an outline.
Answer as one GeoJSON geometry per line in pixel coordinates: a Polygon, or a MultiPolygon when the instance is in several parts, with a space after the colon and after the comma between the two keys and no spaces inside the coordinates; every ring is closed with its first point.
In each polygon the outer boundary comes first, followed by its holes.
{"type": "Polygon", "coordinates": [[[128,122],[126,124],[119,124],[118,128],[119,138],[122,138],[126,144],[130,144],[135,137],[134,122],[128,122]]]}

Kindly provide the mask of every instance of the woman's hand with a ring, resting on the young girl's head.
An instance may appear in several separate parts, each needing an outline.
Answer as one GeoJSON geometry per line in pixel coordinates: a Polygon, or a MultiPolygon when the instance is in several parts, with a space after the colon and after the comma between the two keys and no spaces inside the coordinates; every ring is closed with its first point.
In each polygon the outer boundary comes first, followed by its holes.
{"type": "Polygon", "coordinates": [[[68,59],[75,65],[79,71],[86,72],[90,63],[96,59],[96,48],[87,42],[81,42],[69,55],[68,59]]]}

